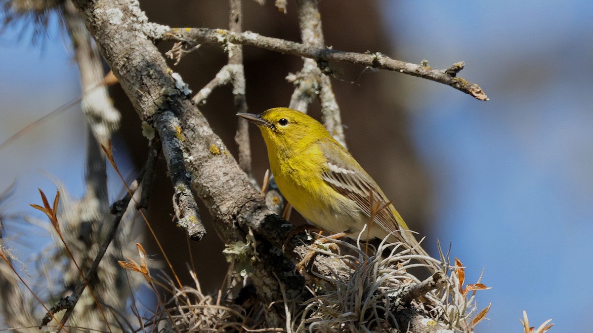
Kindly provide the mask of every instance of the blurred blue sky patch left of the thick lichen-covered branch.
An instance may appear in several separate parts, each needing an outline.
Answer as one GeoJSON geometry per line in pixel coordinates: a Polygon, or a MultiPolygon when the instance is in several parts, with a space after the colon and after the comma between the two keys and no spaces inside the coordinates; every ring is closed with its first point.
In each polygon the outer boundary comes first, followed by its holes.
{"type": "MultiPolygon", "coordinates": [[[[0,142],[79,97],[78,68],[66,53],[56,20],[50,21],[49,27],[47,39],[36,46],[31,45],[26,34],[18,39],[14,30],[0,35],[0,63],[4,64],[0,66],[0,142]]],[[[76,105],[0,151],[0,191],[15,182],[14,193],[2,205],[2,213],[25,212],[43,217],[28,203],[41,202],[37,188],[42,188],[48,197],[55,196],[52,177],[63,182],[75,196],[82,194],[84,145],[80,143],[85,142],[84,121],[76,105]]],[[[24,262],[30,256],[29,248],[38,248],[40,241],[49,242],[47,235],[36,237],[43,234],[37,228],[15,228],[8,223],[4,228],[9,236],[27,235],[13,243],[12,248],[13,254],[24,262]]]]}

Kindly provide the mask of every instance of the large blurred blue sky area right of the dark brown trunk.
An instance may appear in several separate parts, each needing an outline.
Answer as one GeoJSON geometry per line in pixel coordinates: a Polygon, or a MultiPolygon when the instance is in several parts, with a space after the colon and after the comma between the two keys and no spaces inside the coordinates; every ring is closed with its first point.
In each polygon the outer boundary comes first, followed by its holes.
{"type": "Polygon", "coordinates": [[[593,287],[593,3],[385,1],[398,58],[460,75],[490,101],[410,79],[410,120],[435,180],[433,238],[468,282],[485,267],[477,332],[553,318],[585,329],[593,287]],[[578,286],[578,287],[575,287],[578,286]],[[582,319],[579,319],[582,318],[582,319]]]}

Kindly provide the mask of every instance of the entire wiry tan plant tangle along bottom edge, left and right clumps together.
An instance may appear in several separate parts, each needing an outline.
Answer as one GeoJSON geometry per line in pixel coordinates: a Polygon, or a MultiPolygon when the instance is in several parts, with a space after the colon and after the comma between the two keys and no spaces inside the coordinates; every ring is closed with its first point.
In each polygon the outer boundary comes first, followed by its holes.
{"type": "MultiPolygon", "coordinates": [[[[401,251],[401,244],[382,242],[375,249],[361,242],[324,238],[324,244],[311,246],[311,251],[345,265],[340,265],[339,271],[332,270],[329,276],[301,272],[313,295],[305,303],[286,297],[282,290],[285,297],[278,303],[285,308],[286,327],[266,325],[269,305],[259,302],[254,292],[237,297],[237,289],[246,284],[235,283],[240,286],[220,290],[217,297],[212,297],[202,292],[192,273],[196,287],[179,289],[171,283],[166,310],[158,314],[158,331],[400,332],[420,323],[442,332],[471,332],[489,309],[474,315],[476,291],[488,288],[479,283],[462,287],[464,268],[458,260],[450,266],[442,252],[442,261],[423,257],[440,271],[421,281],[410,271],[418,271],[425,264],[416,262],[417,255],[401,251]],[[406,316],[409,319],[402,321],[406,316]]],[[[237,273],[229,271],[227,278],[233,280],[235,276],[237,273]]]]}

